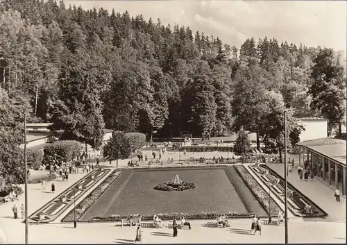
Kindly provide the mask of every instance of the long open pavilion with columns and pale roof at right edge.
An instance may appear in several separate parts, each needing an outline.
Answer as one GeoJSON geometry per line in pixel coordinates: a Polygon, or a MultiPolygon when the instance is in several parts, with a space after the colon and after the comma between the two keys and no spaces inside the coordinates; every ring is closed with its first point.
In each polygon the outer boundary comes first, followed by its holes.
{"type": "Polygon", "coordinates": [[[311,167],[316,178],[346,195],[346,140],[324,137],[296,146],[301,166],[311,167]]]}

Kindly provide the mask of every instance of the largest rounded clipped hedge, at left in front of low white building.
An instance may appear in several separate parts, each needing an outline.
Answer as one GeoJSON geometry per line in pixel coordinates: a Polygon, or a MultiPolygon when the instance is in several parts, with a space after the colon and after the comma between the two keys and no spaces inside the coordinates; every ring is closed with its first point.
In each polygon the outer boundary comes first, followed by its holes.
{"type": "Polygon", "coordinates": [[[70,162],[81,155],[82,145],[74,140],[57,141],[44,147],[44,163],[70,162]]]}

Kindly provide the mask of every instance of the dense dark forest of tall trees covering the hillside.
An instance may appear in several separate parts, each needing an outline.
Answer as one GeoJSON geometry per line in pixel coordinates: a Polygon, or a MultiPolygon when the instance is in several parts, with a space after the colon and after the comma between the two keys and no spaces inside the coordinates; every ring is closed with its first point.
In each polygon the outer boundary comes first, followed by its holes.
{"type": "Polygon", "coordinates": [[[249,38],[237,48],[128,12],[6,0],[0,3],[0,141],[22,141],[27,111],[29,122],[53,122],[52,130],[64,130],[62,139],[95,148],[103,128],[209,138],[243,126],[277,151],[285,110],[293,144],[302,130],[296,117],[327,118],[329,132],[341,133],[345,62],[333,49],[276,38],[249,38]]]}

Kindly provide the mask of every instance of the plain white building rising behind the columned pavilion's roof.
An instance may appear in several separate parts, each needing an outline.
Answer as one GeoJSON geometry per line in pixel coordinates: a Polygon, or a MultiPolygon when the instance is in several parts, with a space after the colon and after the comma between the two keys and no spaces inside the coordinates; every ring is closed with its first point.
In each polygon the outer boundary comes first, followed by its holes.
{"type": "Polygon", "coordinates": [[[328,137],[328,119],[319,117],[298,118],[305,130],[301,132],[300,142],[328,137]]]}

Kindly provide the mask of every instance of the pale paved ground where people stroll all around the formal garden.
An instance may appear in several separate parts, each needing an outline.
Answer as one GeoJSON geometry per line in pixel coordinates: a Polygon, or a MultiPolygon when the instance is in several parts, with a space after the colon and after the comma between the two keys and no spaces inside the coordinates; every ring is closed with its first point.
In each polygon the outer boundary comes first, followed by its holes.
{"type": "MultiPolygon", "coordinates": [[[[146,153],[146,151],[144,151],[146,153]]],[[[227,153],[194,153],[195,158],[204,155],[205,158],[216,158],[227,153]]],[[[231,155],[231,153],[229,153],[231,155]]],[[[151,151],[147,152],[151,156],[151,151]]],[[[174,158],[178,160],[178,153],[164,153],[162,158],[174,158]]],[[[189,158],[193,153],[181,155],[181,158],[189,158]]],[[[119,167],[125,167],[128,160],[119,160],[119,167]]],[[[108,164],[109,163],[103,163],[108,164]]],[[[112,162],[115,167],[116,162],[112,162]]],[[[166,165],[167,166],[167,165],[166,165]]],[[[269,164],[271,168],[282,174],[282,164],[269,164]]],[[[49,193],[51,183],[47,183],[47,191],[42,191],[40,184],[28,185],[28,212],[35,212],[50,201],[54,196],[60,194],[64,189],[81,179],[84,174],[70,175],[69,182],[59,179],[54,181],[56,193],[49,193]]],[[[289,175],[289,181],[303,194],[312,198],[329,217],[326,219],[301,219],[289,220],[289,242],[290,243],[346,243],[346,198],[341,198],[337,203],[333,197],[333,191],[319,180],[303,183],[298,180],[295,172],[289,175]]],[[[17,206],[24,203],[24,194],[19,196],[15,203],[3,203],[0,205],[0,226],[3,229],[8,243],[24,243],[24,223],[22,219],[12,219],[12,205],[17,206]]],[[[19,215],[20,217],[20,215],[19,215]]],[[[230,220],[230,228],[214,228],[207,224],[214,220],[194,220],[192,230],[178,230],[178,237],[172,237],[169,228],[154,229],[142,228],[143,243],[284,243],[285,228],[281,226],[262,225],[262,235],[250,235],[251,220],[230,220]]],[[[169,221],[164,221],[169,223],[169,221]]],[[[73,228],[72,223],[53,223],[45,225],[29,225],[29,243],[133,243],[135,240],[135,228],[123,227],[118,223],[78,223],[73,228]],[[117,225],[117,226],[116,226],[117,225]]]]}

